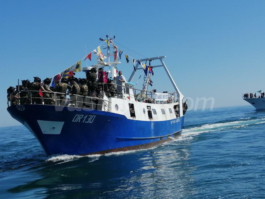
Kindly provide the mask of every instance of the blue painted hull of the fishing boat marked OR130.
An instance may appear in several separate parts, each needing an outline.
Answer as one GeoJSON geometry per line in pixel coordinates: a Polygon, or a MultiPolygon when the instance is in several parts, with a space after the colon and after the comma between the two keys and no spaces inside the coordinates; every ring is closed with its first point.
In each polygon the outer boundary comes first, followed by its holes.
{"type": "Polygon", "coordinates": [[[184,122],[184,116],[167,121],[139,121],[100,110],[37,104],[24,104],[22,109],[10,106],[7,111],[23,125],[27,123],[47,155],[149,148],[180,135],[184,122]],[[64,123],[59,134],[44,134],[38,121],[64,123]]]}

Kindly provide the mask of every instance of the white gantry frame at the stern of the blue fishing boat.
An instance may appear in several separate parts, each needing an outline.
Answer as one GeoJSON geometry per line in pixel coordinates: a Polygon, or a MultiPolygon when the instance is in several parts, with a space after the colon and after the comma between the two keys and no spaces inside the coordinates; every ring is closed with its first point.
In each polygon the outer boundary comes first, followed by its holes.
{"type": "MultiPolygon", "coordinates": [[[[153,68],[164,67],[165,72],[167,73],[167,75],[168,75],[168,77],[169,77],[169,80],[171,81],[173,87],[175,88],[175,90],[176,90],[176,92],[177,92],[177,101],[178,101],[178,103],[179,103],[179,105],[178,105],[178,107],[179,107],[179,108],[178,108],[178,115],[181,117],[181,116],[183,116],[183,111],[182,111],[182,99],[183,99],[184,96],[182,95],[182,93],[180,92],[180,90],[177,88],[177,85],[176,85],[175,81],[173,80],[171,74],[169,73],[169,70],[167,69],[167,67],[166,67],[166,65],[165,65],[165,63],[164,63],[164,61],[162,60],[162,59],[165,58],[165,57],[166,57],[166,56],[151,57],[151,58],[141,59],[141,60],[136,60],[136,61],[139,61],[139,62],[142,62],[142,61],[152,61],[152,60],[160,60],[160,61],[161,61],[161,65],[156,65],[156,66],[152,66],[152,67],[153,67],[153,68]]],[[[138,63],[138,62],[136,62],[136,63],[137,63],[136,66],[135,66],[135,69],[136,69],[136,70],[141,70],[141,69],[143,69],[142,66],[139,67],[139,63],[138,63]]],[[[132,82],[132,79],[133,79],[135,73],[136,73],[136,71],[133,70],[133,71],[132,71],[132,74],[131,74],[131,76],[130,76],[130,78],[129,78],[129,80],[128,80],[129,82],[132,82]]]]}

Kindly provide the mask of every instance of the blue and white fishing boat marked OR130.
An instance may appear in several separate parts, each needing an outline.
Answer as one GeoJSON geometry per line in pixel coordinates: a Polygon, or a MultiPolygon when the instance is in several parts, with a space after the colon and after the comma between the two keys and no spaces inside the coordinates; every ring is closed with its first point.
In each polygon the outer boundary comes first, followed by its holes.
{"type": "MultiPolygon", "coordinates": [[[[113,42],[108,37],[106,40],[113,42]]],[[[116,65],[121,62],[117,59],[110,62],[110,56],[115,56],[115,52],[112,54],[110,48],[106,49],[107,57],[93,51],[98,56],[98,63],[82,68],[86,73],[91,68],[96,69],[96,84],[102,86],[100,96],[69,96],[68,93],[54,92],[55,96],[65,96],[63,103],[57,97],[54,105],[47,105],[33,104],[32,96],[35,95],[32,92],[36,92],[33,90],[8,94],[7,111],[27,127],[47,155],[89,155],[144,149],[181,135],[187,103],[183,102],[184,96],[163,61],[165,56],[133,60],[134,69],[130,78],[124,85],[117,85],[116,65]],[[147,61],[159,64],[142,64],[147,61]],[[110,67],[111,71],[102,71],[103,66],[110,67]],[[151,68],[163,68],[175,91],[149,91],[151,68]],[[145,72],[141,89],[136,89],[132,83],[137,70],[145,72]],[[103,73],[108,73],[113,81],[100,80],[99,75],[103,73]],[[121,89],[117,90],[119,86],[121,89]],[[21,100],[23,92],[27,93],[27,103],[21,100]],[[17,104],[12,103],[14,96],[17,104]]]]}

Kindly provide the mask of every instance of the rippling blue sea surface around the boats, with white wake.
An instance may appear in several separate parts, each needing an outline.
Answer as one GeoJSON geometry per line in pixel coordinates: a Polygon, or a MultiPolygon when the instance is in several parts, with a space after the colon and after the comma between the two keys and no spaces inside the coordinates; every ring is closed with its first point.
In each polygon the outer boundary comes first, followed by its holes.
{"type": "MultiPolygon", "coordinates": [[[[106,155],[45,155],[24,126],[0,128],[1,198],[265,198],[265,111],[187,111],[180,137],[106,155]]],[[[163,131],[163,129],[161,129],[163,131]]]]}

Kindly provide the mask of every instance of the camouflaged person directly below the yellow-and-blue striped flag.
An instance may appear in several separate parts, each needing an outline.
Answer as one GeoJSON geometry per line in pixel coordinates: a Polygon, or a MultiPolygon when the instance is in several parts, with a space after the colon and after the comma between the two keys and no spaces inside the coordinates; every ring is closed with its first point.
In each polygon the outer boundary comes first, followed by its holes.
{"type": "Polygon", "coordinates": [[[55,87],[55,92],[57,92],[56,93],[56,101],[57,101],[56,104],[57,105],[64,106],[65,99],[66,99],[65,93],[67,89],[71,90],[72,87],[68,85],[68,80],[63,77],[61,79],[61,82],[58,83],[55,87]]]}

